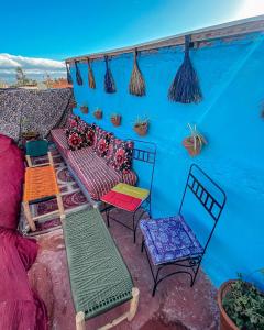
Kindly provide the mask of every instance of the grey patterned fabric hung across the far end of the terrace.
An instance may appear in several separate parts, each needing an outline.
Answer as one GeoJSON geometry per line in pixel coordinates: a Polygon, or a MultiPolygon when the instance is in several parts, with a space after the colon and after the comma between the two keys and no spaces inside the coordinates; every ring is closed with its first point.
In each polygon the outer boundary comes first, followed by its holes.
{"type": "Polygon", "coordinates": [[[18,141],[23,131],[33,130],[46,138],[65,124],[72,98],[72,88],[0,89],[0,133],[18,141]]]}

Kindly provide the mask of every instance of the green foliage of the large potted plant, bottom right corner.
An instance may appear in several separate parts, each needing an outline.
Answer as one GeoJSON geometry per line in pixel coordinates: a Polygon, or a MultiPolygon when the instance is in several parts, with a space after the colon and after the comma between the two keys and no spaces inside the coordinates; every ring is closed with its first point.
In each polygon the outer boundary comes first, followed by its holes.
{"type": "MultiPolygon", "coordinates": [[[[264,275],[264,268],[260,272],[264,275]]],[[[244,280],[242,274],[231,284],[222,306],[239,329],[264,330],[264,293],[244,280]]]]}

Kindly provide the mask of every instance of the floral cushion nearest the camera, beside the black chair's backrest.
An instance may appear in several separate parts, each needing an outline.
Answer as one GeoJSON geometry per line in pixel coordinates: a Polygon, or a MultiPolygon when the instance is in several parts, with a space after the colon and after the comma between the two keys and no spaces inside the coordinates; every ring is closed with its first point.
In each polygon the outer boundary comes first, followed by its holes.
{"type": "Polygon", "coordinates": [[[133,142],[112,139],[109,146],[108,163],[118,172],[127,173],[132,167],[133,142]]]}

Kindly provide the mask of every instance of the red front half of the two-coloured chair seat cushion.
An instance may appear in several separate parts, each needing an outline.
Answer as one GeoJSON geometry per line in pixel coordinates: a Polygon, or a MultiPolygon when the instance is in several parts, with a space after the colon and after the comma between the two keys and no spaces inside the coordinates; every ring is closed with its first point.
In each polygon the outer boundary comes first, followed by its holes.
{"type": "Polygon", "coordinates": [[[102,196],[101,200],[107,204],[113,205],[119,209],[123,209],[130,212],[135,211],[139,208],[139,206],[142,204],[142,199],[140,198],[128,196],[125,194],[121,194],[113,190],[102,196]]]}

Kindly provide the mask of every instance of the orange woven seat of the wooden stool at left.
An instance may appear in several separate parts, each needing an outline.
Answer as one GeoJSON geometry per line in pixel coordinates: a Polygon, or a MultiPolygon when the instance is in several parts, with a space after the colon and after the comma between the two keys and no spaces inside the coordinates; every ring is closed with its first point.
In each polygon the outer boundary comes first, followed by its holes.
{"type": "Polygon", "coordinates": [[[53,166],[26,167],[23,201],[59,194],[53,166]]]}

